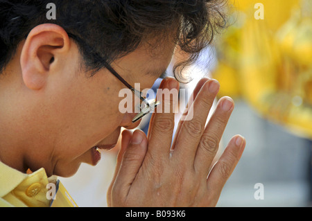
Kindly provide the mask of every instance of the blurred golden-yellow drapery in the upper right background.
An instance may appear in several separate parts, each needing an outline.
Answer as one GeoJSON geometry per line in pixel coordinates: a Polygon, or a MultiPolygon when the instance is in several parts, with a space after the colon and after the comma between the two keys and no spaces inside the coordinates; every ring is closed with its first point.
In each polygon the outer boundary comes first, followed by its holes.
{"type": "Polygon", "coordinates": [[[243,98],[263,118],[312,139],[312,1],[230,3],[212,73],[219,96],[243,98]]]}

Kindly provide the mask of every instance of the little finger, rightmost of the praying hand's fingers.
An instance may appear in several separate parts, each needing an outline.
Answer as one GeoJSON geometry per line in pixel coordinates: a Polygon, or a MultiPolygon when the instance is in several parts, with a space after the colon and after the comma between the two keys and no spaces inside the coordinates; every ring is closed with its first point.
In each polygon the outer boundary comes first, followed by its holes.
{"type": "Polygon", "coordinates": [[[227,179],[232,175],[239,159],[241,159],[245,145],[246,141],[243,136],[240,135],[234,136],[231,141],[229,141],[227,148],[219,161],[212,168],[207,179],[207,188],[211,199],[218,201],[225,182],[227,182],[227,179]]]}

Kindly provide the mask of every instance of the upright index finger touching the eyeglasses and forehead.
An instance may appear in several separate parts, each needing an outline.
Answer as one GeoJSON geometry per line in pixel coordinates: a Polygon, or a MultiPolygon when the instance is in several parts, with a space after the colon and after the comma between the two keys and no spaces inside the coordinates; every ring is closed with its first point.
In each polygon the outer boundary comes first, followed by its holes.
{"type": "Polygon", "coordinates": [[[153,118],[148,141],[148,152],[152,156],[169,157],[175,126],[174,108],[177,104],[179,83],[174,78],[166,78],[164,90],[157,92],[161,101],[153,118]]]}

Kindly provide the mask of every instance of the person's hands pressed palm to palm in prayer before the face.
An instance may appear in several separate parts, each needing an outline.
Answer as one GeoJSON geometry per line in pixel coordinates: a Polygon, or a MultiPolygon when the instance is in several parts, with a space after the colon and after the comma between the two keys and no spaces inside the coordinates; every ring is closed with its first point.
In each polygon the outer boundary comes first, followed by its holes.
{"type": "MultiPolygon", "coordinates": [[[[166,78],[159,88],[178,87],[175,79],[166,78]]],[[[109,206],[216,206],[245,148],[245,139],[236,135],[213,164],[234,109],[231,98],[221,98],[206,125],[219,87],[216,80],[198,82],[188,104],[193,105],[193,118],[180,121],[174,138],[173,112],[156,111],[148,136],[140,130],[123,131],[114,179],[107,192],[109,206]]],[[[173,105],[173,100],[168,102],[173,105]]]]}

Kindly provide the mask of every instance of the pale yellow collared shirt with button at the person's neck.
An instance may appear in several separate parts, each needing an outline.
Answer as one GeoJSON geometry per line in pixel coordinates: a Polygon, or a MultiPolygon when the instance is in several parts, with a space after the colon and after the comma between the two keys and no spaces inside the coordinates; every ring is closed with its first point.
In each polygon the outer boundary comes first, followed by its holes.
{"type": "MultiPolygon", "coordinates": [[[[0,207],[49,207],[48,184],[56,185],[57,177],[48,178],[44,168],[28,175],[0,162],[0,207]]],[[[76,206],[62,184],[54,202],[57,206],[76,206]]]]}

